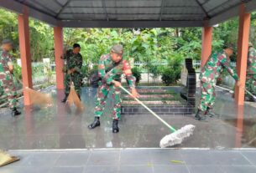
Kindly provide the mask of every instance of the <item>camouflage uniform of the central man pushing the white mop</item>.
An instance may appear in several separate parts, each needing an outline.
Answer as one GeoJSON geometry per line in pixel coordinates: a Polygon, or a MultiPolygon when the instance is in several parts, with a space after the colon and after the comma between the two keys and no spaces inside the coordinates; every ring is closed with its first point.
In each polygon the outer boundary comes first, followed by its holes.
{"type": "Polygon", "coordinates": [[[121,114],[121,91],[119,88],[115,87],[112,84],[112,80],[121,81],[121,75],[125,74],[125,77],[128,81],[130,88],[135,88],[135,78],[133,74],[126,73],[126,70],[131,69],[130,65],[127,61],[122,60],[120,64],[116,67],[108,71],[115,63],[112,61],[111,56],[109,54],[102,55],[98,64],[98,75],[102,78],[99,82],[99,87],[97,89],[97,99],[95,106],[95,116],[102,116],[102,110],[106,104],[107,94],[109,92],[112,93],[112,99],[114,102],[112,108],[112,118],[113,120],[120,119],[121,114]]]}

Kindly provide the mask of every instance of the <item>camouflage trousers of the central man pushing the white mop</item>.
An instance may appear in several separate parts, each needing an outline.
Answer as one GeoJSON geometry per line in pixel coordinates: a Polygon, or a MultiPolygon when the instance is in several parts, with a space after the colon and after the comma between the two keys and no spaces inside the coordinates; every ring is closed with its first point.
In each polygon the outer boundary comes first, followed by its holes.
{"type": "Polygon", "coordinates": [[[111,93],[113,99],[112,105],[112,119],[119,120],[121,116],[121,92],[113,84],[99,84],[97,88],[97,98],[95,102],[94,114],[95,116],[102,116],[102,111],[106,104],[107,95],[111,93]]]}

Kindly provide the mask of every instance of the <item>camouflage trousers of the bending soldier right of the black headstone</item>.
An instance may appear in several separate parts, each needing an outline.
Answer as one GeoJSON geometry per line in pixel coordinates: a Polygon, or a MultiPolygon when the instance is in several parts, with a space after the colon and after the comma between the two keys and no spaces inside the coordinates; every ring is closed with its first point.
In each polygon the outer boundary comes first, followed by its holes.
{"type": "Polygon", "coordinates": [[[206,111],[207,107],[212,108],[215,103],[215,84],[201,82],[201,99],[198,109],[206,111]]]}

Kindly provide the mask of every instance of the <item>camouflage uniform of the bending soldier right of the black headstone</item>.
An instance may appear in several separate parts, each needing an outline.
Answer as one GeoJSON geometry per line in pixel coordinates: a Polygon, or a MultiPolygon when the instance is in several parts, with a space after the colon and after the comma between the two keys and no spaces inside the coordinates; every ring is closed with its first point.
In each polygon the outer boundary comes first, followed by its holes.
{"type": "Polygon", "coordinates": [[[227,54],[223,50],[212,53],[199,77],[201,80],[201,100],[198,109],[201,111],[206,111],[207,107],[212,108],[216,96],[216,82],[223,69],[227,69],[232,78],[238,80],[238,74],[232,69],[227,54]]]}

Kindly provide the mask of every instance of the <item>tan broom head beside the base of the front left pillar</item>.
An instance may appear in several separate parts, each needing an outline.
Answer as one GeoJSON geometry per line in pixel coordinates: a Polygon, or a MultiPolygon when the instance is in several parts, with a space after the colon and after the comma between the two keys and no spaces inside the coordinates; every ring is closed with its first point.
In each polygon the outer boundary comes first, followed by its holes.
{"type": "Polygon", "coordinates": [[[37,104],[39,107],[49,107],[53,105],[53,100],[50,94],[43,94],[34,89],[29,89],[29,87],[26,87],[25,89],[29,94],[29,99],[32,104],[37,104]]]}

